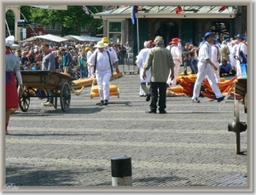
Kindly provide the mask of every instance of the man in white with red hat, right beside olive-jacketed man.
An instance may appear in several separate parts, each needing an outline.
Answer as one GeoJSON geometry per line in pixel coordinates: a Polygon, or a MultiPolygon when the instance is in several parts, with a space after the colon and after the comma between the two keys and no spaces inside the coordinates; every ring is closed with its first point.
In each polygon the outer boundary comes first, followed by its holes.
{"type": "Polygon", "coordinates": [[[170,42],[171,44],[169,46],[166,47],[166,49],[169,49],[169,51],[171,51],[172,54],[172,60],[174,61],[174,78],[172,80],[170,80],[170,77],[168,78],[167,82],[169,85],[175,86],[177,83],[177,75],[179,72],[179,66],[181,64],[182,61],[182,56],[180,53],[180,50],[177,47],[177,44],[181,41],[181,39],[179,38],[172,38],[172,41],[170,42]]]}

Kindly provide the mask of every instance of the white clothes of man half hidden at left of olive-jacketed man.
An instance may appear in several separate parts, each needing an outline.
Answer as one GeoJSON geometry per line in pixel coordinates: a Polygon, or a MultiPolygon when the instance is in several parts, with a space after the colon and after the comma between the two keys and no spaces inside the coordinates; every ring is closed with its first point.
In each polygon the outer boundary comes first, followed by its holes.
{"type": "Polygon", "coordinates": [[[143,79],[143,66],[148,56],[149,48],[142,49],[137,55],[137,66],[140,69],[140,83],[150,83],[151,72],[150,69],[146,72],[146,78],[143,79]]]}

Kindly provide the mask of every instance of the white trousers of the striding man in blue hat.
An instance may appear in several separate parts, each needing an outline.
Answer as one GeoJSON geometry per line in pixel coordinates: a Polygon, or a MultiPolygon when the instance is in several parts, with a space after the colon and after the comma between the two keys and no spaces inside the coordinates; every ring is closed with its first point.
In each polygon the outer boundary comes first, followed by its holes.
{"type": "Polygon", "coordinates": [[[201,91],[201,83],[206,76],[216,98],[222,97],[222,94],[218,88],[218,84],[216,83],[216,79],[214,77],[214,74],[212,72],[212,67],[210,66],[210,64],[207,64],[207,62],[198,61],[197,66],[198,66],[198,72],[197,72],[197,78],[195,81],[192,100],[199,97],[200,91],[201,91]]]}

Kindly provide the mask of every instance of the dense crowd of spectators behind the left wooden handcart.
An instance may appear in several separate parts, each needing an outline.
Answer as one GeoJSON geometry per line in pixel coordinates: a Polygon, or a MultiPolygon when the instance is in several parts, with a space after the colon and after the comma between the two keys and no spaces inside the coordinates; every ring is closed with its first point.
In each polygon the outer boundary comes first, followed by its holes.
{"type": "MultiPolygon", "coordinates": [[[[95,50],[96,43],[51,43],[49,50],[55,55],[56,72],[67,72],[72,77],[90,77],[92,72],[87,66],[87,59],[95,50]],[[65,55],[65,60],[63,58],[65,55]],[[84,61],[82,61],[84,60],[84,61]]],[[[41,70],[41,63],[44,53],[41,49],[42,43],[26,43],[25,47],[15,49],[15,55],[20,59],[20,70],[41,70]]],[[[113,52],[119,59],[119,64],[125,63],[125,57],[129,44],[109,42],[108,47],[113,48],[113,52]]]]}

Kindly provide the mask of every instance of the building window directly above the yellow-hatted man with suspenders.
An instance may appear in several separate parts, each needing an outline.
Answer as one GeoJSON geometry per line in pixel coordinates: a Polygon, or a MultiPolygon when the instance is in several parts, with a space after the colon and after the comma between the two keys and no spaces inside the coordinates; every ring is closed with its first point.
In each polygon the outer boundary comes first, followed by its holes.
{"type": "Polygon", "coordinates": [[[122,43],[122,21],[108,21],[109,41],[122,43]]]}

